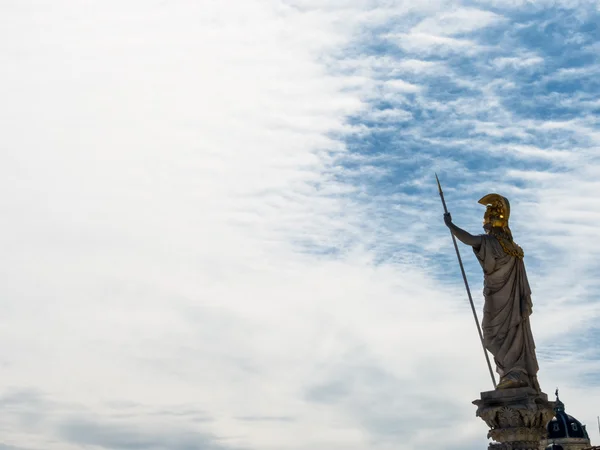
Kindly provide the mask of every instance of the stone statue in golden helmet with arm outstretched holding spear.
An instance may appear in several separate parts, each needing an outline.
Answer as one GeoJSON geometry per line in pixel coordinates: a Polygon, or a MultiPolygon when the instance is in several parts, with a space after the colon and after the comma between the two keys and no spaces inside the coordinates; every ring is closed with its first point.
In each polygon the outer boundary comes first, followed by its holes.
{"type": "Polygon", "coordinates": [[[459,241],[473,248],[483,269],[483,344],[494,356],[500,375],[496,389],[530,387],[541,392],[529,322],[531,289],[523,250],[514,242],[508,226],[510,204],[498,194],[488,194],[479,203],[486,205],[485,234],[474,236],[457,227],[448,212],[444,222],[459,241]]]}

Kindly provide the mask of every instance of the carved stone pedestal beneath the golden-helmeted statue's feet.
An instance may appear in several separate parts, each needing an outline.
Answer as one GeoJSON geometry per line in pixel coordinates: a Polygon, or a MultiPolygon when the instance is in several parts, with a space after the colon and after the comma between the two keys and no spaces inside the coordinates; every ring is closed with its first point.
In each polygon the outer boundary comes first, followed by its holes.
{"type": "Polygon", "coordinates": [[[554,403],[532,388],[498,389],[482,392],[477,417],[490,427],[489,450],[540,450],[546,424],[554,417],[554,403]]]}

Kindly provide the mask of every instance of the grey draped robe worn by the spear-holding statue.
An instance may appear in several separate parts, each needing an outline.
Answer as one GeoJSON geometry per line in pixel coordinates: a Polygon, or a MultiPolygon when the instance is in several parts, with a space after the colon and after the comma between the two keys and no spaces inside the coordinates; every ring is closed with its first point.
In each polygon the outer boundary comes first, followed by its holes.
{"type": "Polygon", "coordinates": [[[493,235],[482,235],[473,248],[484,273],[483,341],[500,377],[519,374],[530,387],[540,390],[538,363],[529,316],[531,289],[523,259],[508,255],[493,235]]]}

